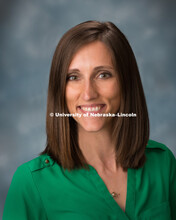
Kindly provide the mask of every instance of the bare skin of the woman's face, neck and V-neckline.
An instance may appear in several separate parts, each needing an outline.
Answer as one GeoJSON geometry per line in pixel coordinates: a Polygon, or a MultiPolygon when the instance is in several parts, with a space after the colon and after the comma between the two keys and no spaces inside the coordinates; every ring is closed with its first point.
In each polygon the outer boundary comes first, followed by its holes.
{"type": "MultiPolygon", "coordinates": [[[[102,104],[100,113],[116,113],[120,106],[120,83],[109,49],[100,41],[81,47],[73,57],[66,84],[70,113],[83,113],[80,106],[102,104]]],[[[116,164],[112,117],[75,117],[79,147],[110,192],[118,192],[119,206],[125,210],[127,172],[116,164]]]]}

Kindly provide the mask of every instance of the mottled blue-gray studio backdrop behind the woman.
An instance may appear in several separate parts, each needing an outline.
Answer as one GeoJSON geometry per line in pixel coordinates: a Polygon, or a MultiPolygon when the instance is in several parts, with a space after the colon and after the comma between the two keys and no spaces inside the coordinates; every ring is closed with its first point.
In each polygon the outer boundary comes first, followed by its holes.
{"type": "MultiPolygon", "coordinates": [[[[174,1],[1,1],[0,213],[16,168],[45,146],[50,64],[65,31],[86,20],[114,22],[137,58],[147,99],[150,138],[176,155],[174,1]]],[[[1,215],[0,215],[1,217],[1,215]]]]}

